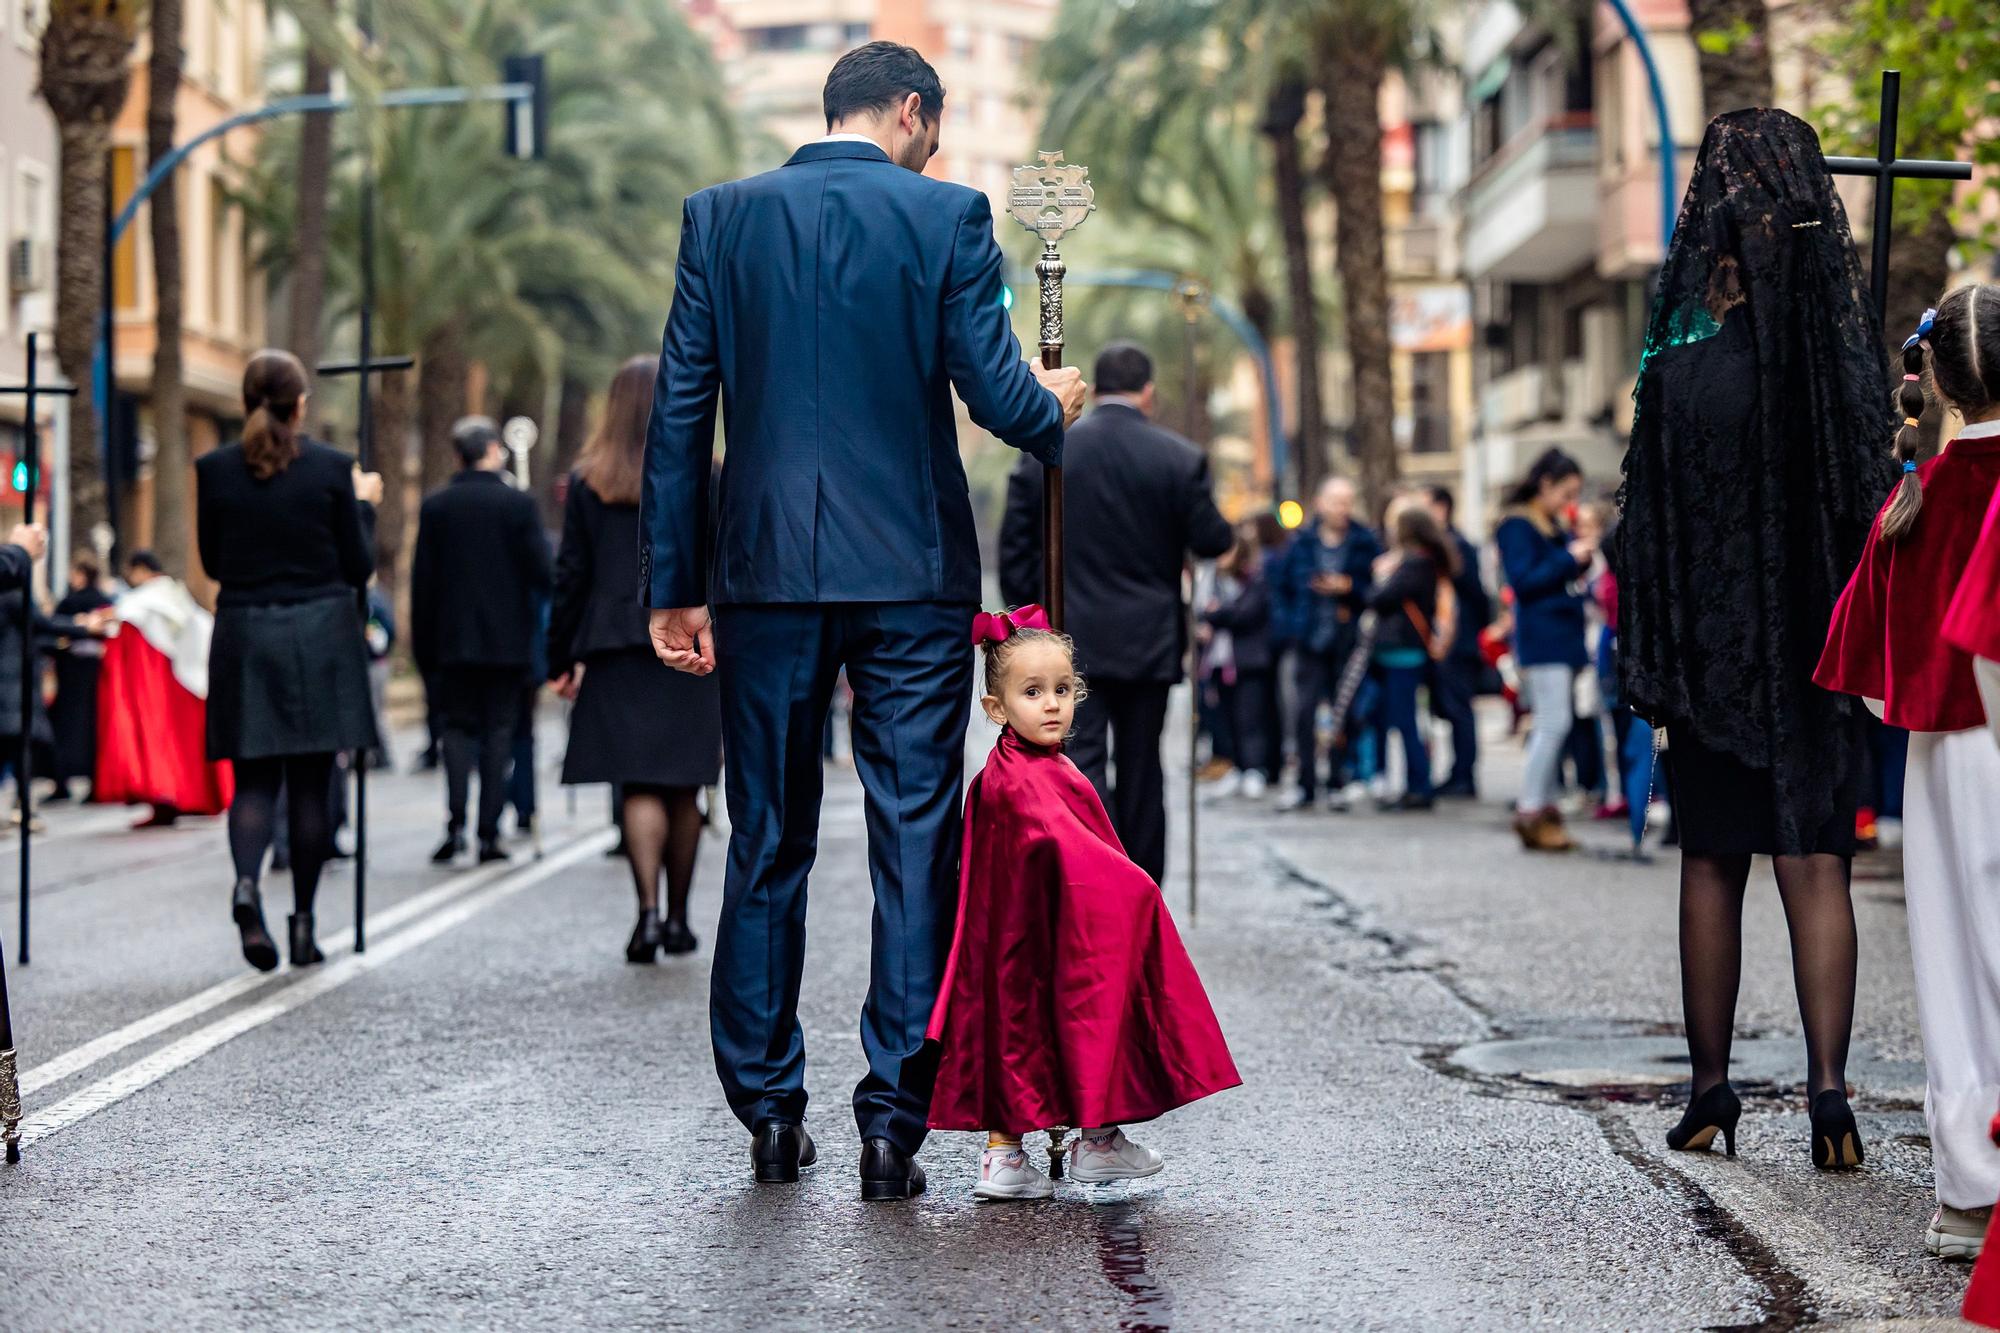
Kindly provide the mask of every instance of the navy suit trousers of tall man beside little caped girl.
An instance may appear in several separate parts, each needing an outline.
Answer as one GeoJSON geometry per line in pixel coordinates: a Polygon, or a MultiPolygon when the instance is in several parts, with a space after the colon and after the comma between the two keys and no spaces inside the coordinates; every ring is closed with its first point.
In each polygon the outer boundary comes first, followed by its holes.
{"type": "Polygon", "coordinates": [[[864,1139],[908,1153],[924,1141],[936,1075],[924,1029],[958,915],[972,612],[958,602],[716,608],[734,831],[710,1031],[722,1089],[748,1127],[806,1115],[806,877],[818,851],[820,739],[846,666],[876,903],[854,1119],[864,1139]]]}

